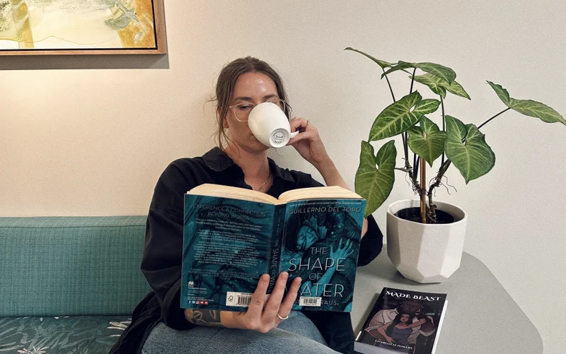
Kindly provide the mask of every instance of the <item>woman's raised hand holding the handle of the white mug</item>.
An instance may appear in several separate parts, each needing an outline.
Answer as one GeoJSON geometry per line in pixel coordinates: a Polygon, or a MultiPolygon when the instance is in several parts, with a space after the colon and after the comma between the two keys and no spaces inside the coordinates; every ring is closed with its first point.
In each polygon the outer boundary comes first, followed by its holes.
{"type": "Polygon", "coordinates": [[[291,138],[287,145],[293,146],[299,155],[317,169],[330,160],[316,126],[301,117],[294,117],[289,124],[291,124],[291,132],[299,131],[299,134],[291,138]]]}

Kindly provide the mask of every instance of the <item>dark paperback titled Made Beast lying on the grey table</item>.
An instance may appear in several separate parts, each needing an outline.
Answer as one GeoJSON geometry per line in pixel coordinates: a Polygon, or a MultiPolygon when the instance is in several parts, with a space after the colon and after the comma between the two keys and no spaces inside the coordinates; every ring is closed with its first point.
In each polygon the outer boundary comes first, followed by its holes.
{"type": "Polygon", "coordinates": [[[383,288],[354,348],[364,354],[433,354],[446,305],[446,294],[383,288]]]}

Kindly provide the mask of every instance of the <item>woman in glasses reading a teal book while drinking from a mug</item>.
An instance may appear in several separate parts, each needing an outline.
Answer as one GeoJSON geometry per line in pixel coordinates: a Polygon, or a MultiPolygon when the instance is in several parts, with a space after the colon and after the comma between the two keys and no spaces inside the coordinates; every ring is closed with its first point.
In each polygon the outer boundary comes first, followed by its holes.
{"type": "MultiPolygon", "coordinates": [[[[268,148],[251,133],[247,118],[261,102],[273,102],[289,117],[279,75],[264,61],[246,57],[222,69],[216,83],[219,147],[200,158],[173,161],[159,178],[146,223],[141,271],[154,290],[141,300],[132,324],[110,353],[353,353],[349,313],[292,312],[300,278],[284,296],[288,274],[277,278],[265,301],[269,276],[258,282],[246,312],[180,308],[183,195],[203,183],[261,191],[276,198],[284,191],[321,186],[311,175],[284,170],[267,158],[268,148]],[[224,146],[224,143],[227,143],[224,146]],[[143,348],[141,348],[143,346],[143,348]]],[[[347,188],[308,120],[295,118],[289,141],[313,164],[327,185],[347,188]]],[[[373,218],[364,220],[358,265],[381,251],[382,235],[373,218]]]]}

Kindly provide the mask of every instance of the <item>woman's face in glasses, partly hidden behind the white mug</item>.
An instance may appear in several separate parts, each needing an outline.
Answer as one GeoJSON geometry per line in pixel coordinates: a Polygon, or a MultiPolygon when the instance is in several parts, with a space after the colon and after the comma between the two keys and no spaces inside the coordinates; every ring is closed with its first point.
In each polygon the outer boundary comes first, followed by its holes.
{"type": "MultiPolygon", "coordinates": [[[[265,73],[249,72],[243,73],[234,86],[229,105],[238,103],[253,103],[259,105],[272,98],[279,98],[275,82],[265,73]]],[[[265,151],[267,146],[258,141],[250,131],[248,122],[240,122],[234,117],[233,109],[230,108],[226,114],[226,127],[229,128],[229,138],[238,148],[243,148],[248,153],[265,151]]]]}

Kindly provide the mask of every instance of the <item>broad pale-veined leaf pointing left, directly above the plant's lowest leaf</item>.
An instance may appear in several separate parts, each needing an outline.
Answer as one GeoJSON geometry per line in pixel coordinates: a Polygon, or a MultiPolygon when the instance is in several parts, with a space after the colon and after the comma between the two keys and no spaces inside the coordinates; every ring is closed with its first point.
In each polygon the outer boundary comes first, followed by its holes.
{"type": "Polygon", "coordinates": [[[369,141],[389,138],[403,133],[419,122],[420,117],[438,109],[438,100],[422,100],[420,93],[415,91],[397,102],[388,105],[374,121],[369,131],[369,141]],[[412,107],[415,107],[412,110],[412,107]]]}

